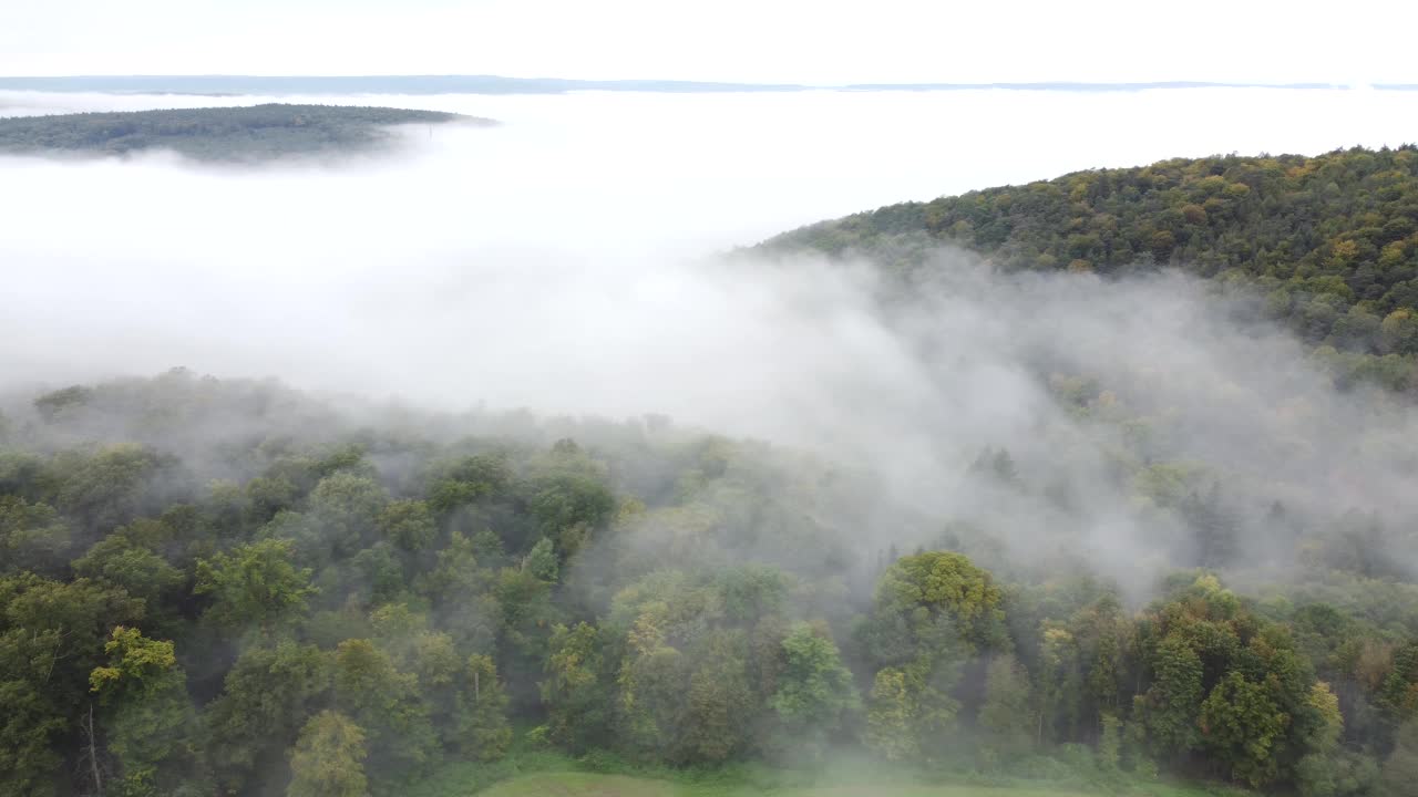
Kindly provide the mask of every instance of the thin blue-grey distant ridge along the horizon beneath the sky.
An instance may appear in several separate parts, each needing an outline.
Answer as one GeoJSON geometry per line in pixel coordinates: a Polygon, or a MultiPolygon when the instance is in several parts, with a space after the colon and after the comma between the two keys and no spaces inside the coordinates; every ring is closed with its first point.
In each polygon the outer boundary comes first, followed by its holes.
{"type": "MultiPolygon", "coordinates": [[[[126,77],[0,77],[0,89],[104,92],[104,94],[196,94],[196,95],[335,95],[335,94],[567,94],[573,91],[638,91],[658,94],[797,92],[797,91],[1151,91],[1195,88],[1286,88],[1347,89],[1341,84],[1251,84],[1251,82],[916,82],[916,84],[747,84],[712,81],[579,81],[566,78],[506,78],[501,75],[349,75],[349,77],[255,77],[255,75],[126,75],[126,77]]],[[[1378,84],[1377,89],[1414,91],[1418,84],[1378,84]]]]}

